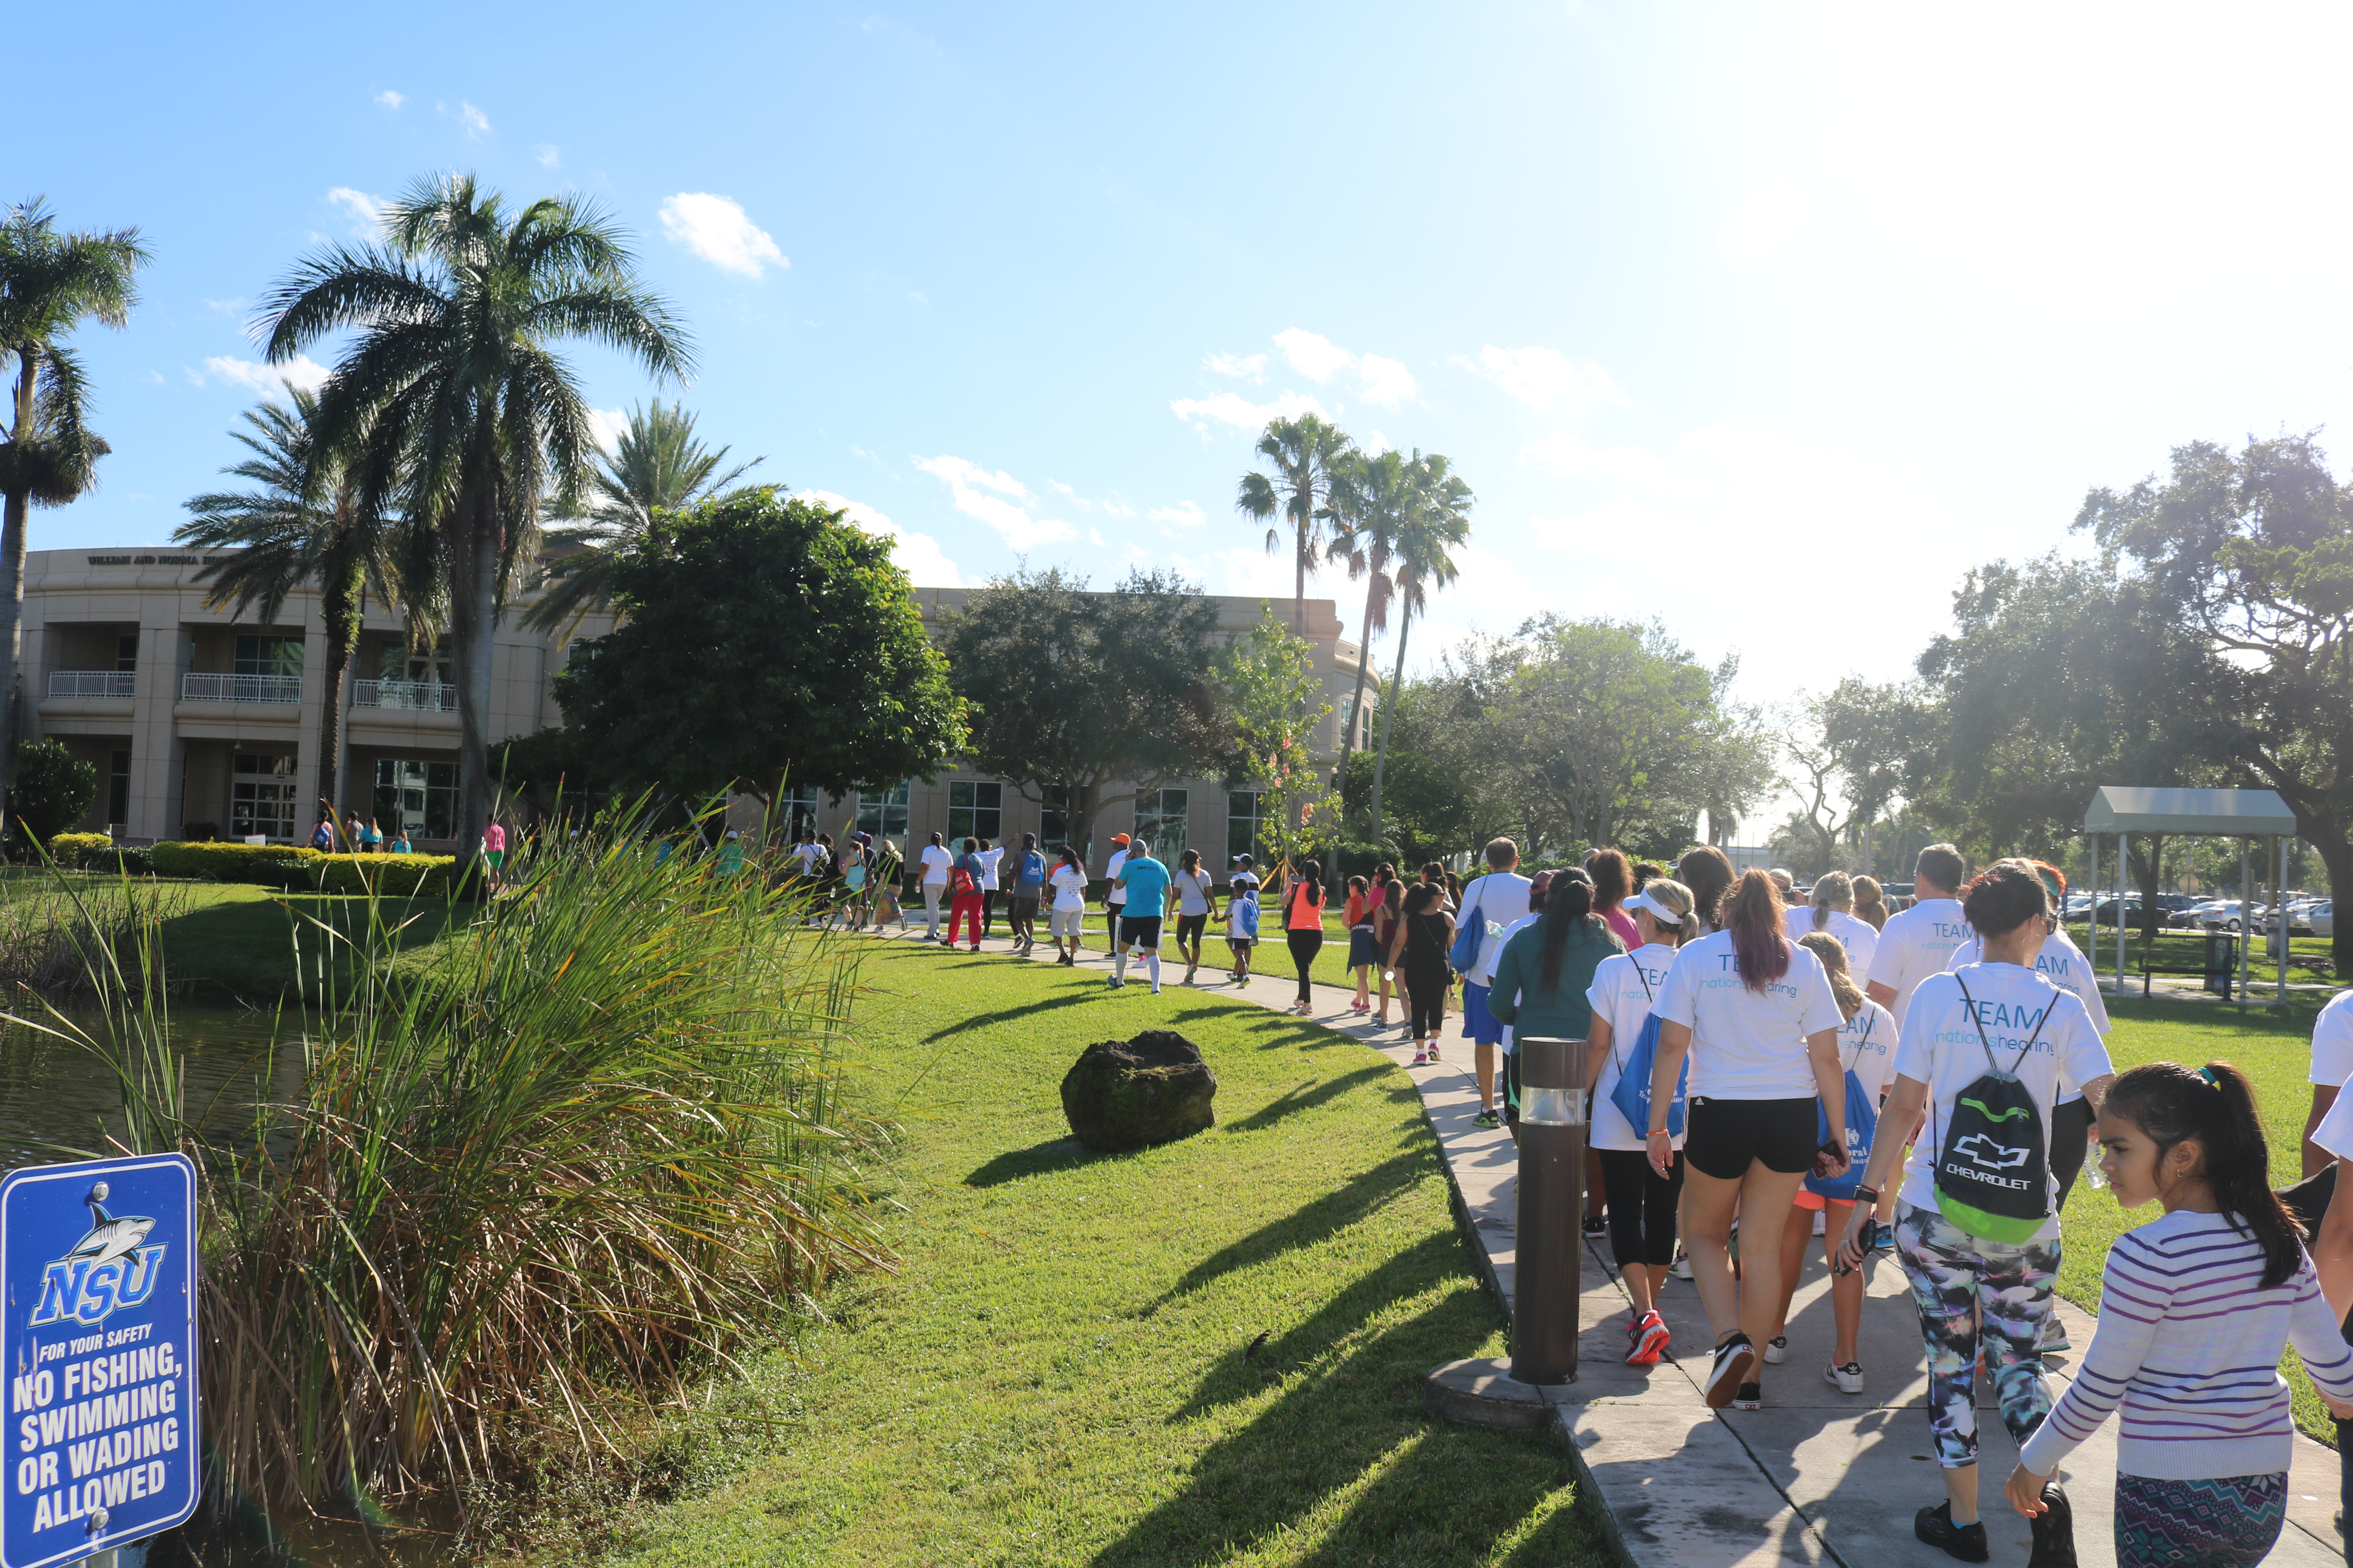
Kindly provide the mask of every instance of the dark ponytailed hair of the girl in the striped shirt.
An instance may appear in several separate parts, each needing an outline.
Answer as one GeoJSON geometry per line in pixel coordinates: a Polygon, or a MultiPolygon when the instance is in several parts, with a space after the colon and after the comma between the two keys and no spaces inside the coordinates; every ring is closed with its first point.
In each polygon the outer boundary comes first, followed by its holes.
{"type": "Polygon", "coordinates": [[[2148,1133],[2160,1164],[2195,1138],[2198,1175],[2214,1190],[2221,1218],[2264,1248],[2264,1288],[2287,1284],[2304,1262],[2304,1229],[2271,1190],[2271,1143],[2245,1072],[2231,1063],[2141,1063],[2118,1074],[2101,1114],[2148,1133]]]}

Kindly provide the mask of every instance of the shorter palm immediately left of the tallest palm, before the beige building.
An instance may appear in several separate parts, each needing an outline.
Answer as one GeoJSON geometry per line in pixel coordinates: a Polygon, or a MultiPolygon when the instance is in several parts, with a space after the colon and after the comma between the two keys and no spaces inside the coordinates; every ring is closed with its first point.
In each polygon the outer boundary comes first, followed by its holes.
{"type": "Polygon", "coordinates": [[[174,541],[202,550],[235,550],[226,562],[205,567],[195,581],[209,581],[205,604],[235,604],[238,616],[259,607],[261,621],[304,583],[318,585],[320,618],[327,623],[327,701],[318,726],[318,799],[341,820],[336,771],[344,755],[344,672],[360,642],[360,616],[367,595],[384,604],[405,604],[412,632],[426,635],[421,618],[431,602],[400,590],[405,578],[407,531],[381,510],[360,501],[360,487],[332,454],[318,449],[318,397],[294,390],[294,407],[264,402],[245,411],[249,430],[233,435],[252,456],[221,473],[252,480],[259,489],[212,491],[188,501],[193,522],[181,524],[174,541]]]}

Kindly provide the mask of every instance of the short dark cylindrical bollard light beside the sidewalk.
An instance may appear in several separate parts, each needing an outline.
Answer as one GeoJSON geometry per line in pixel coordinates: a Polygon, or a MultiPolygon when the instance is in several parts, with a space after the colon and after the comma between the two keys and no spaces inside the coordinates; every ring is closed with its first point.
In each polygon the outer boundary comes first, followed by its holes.
{"type": "Polygon", "coordinates": [[[1520,1041],[1520,1206],[1513,1227],[1511,1375],[1577,1378],[1579,1218],[1586,1206],[1586,1041],[1520,1041]]]}

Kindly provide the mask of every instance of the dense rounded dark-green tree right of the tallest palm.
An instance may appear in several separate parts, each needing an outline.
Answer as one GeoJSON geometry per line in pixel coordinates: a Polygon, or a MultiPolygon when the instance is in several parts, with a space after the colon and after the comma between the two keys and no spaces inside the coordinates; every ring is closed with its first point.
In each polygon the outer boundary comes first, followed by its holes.
{"type": "Polygon", "coordinates": [[[678,512],[612,567],[624,621],[555,677],[565,724],[616,783],[708,797],[934,778],[965,705],[889,541],[746,489],[678,512]]]}

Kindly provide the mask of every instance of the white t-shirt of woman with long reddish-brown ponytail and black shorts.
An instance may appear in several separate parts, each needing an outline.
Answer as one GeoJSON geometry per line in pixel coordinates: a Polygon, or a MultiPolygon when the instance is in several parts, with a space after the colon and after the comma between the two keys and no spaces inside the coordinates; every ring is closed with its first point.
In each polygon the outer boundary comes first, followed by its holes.
{"type": "Polygon", "coordinates": [[[1654,1011],[1692,1030],[1687,1091],[1711,1100],[1812,1100],[1821,1091],[1805,1037],[1845,1023],[1821,959],[1791,943],[1788,973],[1748,990],[1729,931],[1675,954],[1654,1011]]]}

